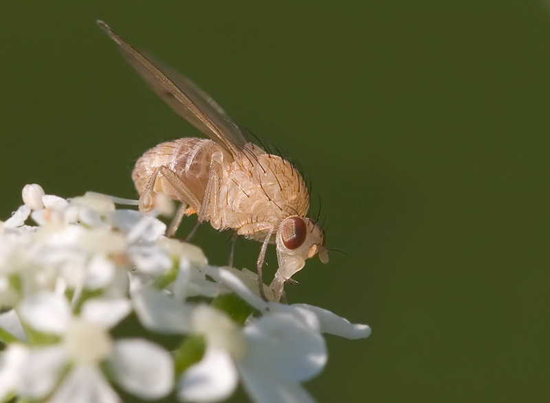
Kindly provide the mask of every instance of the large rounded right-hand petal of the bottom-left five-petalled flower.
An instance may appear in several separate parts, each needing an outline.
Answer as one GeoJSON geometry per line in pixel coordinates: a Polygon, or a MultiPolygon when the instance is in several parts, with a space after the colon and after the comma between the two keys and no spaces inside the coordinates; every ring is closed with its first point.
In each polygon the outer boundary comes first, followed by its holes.
{"type": "Polygon", "coordinates": [[[170,354],[149,341],[135,338],[116,342],[111,365],[118,384],[140,398],[162,398],[174,386],[170,354]]]}

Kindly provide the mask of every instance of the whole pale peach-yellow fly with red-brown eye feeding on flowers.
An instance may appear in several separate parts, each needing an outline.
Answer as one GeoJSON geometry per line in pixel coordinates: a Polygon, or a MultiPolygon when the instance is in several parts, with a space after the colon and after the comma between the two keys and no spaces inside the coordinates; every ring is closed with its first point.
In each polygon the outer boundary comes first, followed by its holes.
{"type": "Polygon", "coordinates": [[[159,97],[210,139],[184,137],[161,143],[137,160],[132,178],[140,194],[140,211],[150,212],[157,195],[179,200],[183,208],[168,230],[173,235],[186,214],[214,229],[262,243],[257,261],[260,295],[267,244],[274,243],[278,269],[270,299],[278,301],[284,283],[305,260],[329,257],[325,233],[307,218],[309,192],[302,176],[285,159],[268,154],[248,140],[239,125],[188,78],[168,76],[103,21],[98,25],[120,46],[124,58],[159,97]]]}

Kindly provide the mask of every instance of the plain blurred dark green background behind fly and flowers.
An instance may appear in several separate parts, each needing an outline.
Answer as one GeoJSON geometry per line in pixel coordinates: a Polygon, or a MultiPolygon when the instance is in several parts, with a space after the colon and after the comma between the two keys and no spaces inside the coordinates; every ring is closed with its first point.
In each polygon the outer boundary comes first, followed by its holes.
{"type": "MultiPolygon", "coordinates": [[[[144,150],[199,135],[104,19],[311,176],[347,254],[308,262],[289,299],[373,327],[327,337],[320,402],[550,401],[549,3],[64,3],[1,3],[2,219],[25,183],[135,197],[144,150]]],[[[228,238],[194,242],[223,264],[228,238]]]]}

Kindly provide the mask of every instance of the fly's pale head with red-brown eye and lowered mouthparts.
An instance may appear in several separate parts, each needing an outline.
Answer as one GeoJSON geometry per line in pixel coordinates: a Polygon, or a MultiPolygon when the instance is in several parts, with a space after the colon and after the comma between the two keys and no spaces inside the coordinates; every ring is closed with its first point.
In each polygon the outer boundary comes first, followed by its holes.
{"type": "Polygon", "coordinates": [[[277,275],[285,281],[301,270],[309,257],[319,255],[321,262],[329,261],[325,232],[311,218],[285,218],[278,228],[275,242],[279,264],[277,275]]]}

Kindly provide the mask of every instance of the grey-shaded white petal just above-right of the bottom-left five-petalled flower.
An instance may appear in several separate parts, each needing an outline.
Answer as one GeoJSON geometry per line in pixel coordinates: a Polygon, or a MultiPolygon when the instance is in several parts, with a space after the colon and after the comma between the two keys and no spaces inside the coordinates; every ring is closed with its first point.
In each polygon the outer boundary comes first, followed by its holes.
{"type": "Polygon", "coordinates": [[[133,295],[137,317],[148,330],[168,334],[189,331],[189,310],[166,293],[154,288],[143,288],[133,295]]]}

